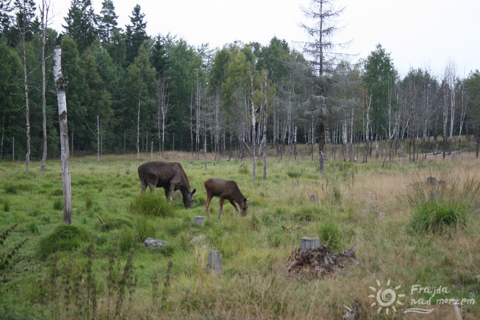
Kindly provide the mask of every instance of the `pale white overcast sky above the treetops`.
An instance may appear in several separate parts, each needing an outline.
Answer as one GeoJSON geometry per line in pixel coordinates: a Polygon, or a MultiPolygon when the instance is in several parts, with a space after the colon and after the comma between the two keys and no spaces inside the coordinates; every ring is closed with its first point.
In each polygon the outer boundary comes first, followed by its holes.
{"type": "MultiPolygon", "coordinates": [[[[98,14],[102,0],[92,0],[98,14]]],[[[119,27],[130,24],[138,3],[145,14],[147,34],[170,33],[189,44],[210,47],[241,40],[268,45],[276,36],[300,47],[306,40],[299,23],[307,22],[300,9],[310,0],[114,0],[119,27]]],[[[353,42],[347,53],[352,62],[366,58],[377,43],[391,53],[395,68],[405,75],[410,68],[429,69],[441,75],[449,61],[457,75],[467,77],[480,69],[480,1],[478,0],[337,0],[344,6],[334,42],[353,42]]],[[[51,0],[56,14],[51,25],[62,31],[69,0],[51,0]]]]}

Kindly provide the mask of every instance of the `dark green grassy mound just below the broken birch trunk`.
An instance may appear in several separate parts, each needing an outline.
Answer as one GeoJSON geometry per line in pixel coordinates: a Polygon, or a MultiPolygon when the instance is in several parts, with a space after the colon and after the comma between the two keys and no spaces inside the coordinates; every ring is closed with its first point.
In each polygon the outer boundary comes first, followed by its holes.
{"type": "Polygon", "coordinates": [[[45,259],[49,254],[56,251],[68,251],[80,247],[81,243],[88,239],[87,232],[77,226],[61,224],[53,231],[40,238],[37,246],[37,253],[40,258],[45,259]]]}

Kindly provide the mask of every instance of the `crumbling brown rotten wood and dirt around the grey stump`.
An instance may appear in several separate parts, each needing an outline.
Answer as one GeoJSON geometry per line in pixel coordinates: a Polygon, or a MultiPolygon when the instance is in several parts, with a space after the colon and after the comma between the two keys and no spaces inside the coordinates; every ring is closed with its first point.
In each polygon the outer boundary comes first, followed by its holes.
{"type": "Polygon", "coordinates": [[[296,276],[306,276],[308,280],[323,278],[345,268],[348,264],[359,264],[355,250],[356,248],[352,247],[334,254],[324,245],[304,252],[298,248],[287,260],[288,274],[290,278],[296,276]]]}

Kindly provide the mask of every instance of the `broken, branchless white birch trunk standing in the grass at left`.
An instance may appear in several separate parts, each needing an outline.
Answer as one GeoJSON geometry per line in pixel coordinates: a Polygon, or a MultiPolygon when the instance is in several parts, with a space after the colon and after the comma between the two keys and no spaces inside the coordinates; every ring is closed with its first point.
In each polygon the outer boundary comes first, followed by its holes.
{"type": "Polygon", "coordinates": [[[68,147],[67,127],[67,79],[62,75],[62,49],[59,45],[53,53],[53,79],[57,88],[58,123],[60,127],[60,145],[63,182],[63,222],[72,224],[72,185],[70,180],[70,150],[68,147]]]}

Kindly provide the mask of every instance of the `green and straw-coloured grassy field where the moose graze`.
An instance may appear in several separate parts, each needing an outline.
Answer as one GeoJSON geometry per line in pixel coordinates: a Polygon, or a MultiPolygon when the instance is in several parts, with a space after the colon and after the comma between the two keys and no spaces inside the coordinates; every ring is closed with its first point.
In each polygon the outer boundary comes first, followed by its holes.
{"type": "Polygon", "coordinates": [[[29,172],[24,163],[0,162],[0,319],[342,319],[356,299],[358,319],[457,319],[453,298],[463,301],[462,319],[480,319],[473,154],[385,168],[383,159],[329,160],[321,176],[308,157],[269,158],[265,181],[257,161],[256,183],[251,159],[242,166],[210,159],[205,169],[188,153],[165,156],[197,189],[191,210],[181,197],[165,204],[162,189],[140,195],[137,167],[149,154],[139,162],[73,158],[72,226],[62,223],[59,160],[46,171],[31,162],[29,172]],[[428,184],[429,176],[437,182],[428,184]],[[227,201],[219,221],[214,198],[212,218],[193,224],[205,215],[210,177],[237,181],[250,198],[246,217],[232,215],[227,201]],[[139,210],[145,203],[164,206],[167,216],[139,210]],[[139,242],[147,237],[171,246],[149,250],[139,242]],[[302,237],[334,253],[355,246],[358,264],[313,280],[290,277],[286,261],[302,237]],[[206,269],[211,249],[222,254],[221,276],[206,269]],[[387,287],[403,305],[369,297],[387,287]],[[435,310],[403,313],[409,308],[435,310]]]}

